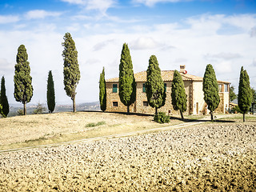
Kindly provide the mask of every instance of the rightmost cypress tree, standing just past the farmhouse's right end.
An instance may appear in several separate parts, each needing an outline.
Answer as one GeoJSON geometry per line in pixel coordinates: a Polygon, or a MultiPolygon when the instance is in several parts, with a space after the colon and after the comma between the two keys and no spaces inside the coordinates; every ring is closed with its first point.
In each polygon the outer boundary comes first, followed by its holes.
{"type": "Polygon", "coordinates": [[[238,106],[242,110],[243,122],[246,121],[246,113],[250,110],[251,105],[250,79],[246,70],[241,67],[239,87],[238,87],[238,106]]]}

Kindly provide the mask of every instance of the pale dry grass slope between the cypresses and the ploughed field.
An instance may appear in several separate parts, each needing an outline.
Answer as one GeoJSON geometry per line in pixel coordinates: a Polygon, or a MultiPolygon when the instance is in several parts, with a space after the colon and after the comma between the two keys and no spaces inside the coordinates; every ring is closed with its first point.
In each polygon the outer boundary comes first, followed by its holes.
{"type": "Polygon", "coordinates": [[[0,119],[0,150],[68,142],[122,134],[180,123],[153,122],[152,116],[138,116],[102,112],[33,114],[0,119]]]}

